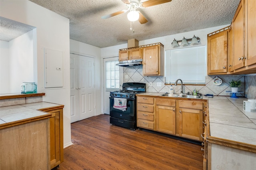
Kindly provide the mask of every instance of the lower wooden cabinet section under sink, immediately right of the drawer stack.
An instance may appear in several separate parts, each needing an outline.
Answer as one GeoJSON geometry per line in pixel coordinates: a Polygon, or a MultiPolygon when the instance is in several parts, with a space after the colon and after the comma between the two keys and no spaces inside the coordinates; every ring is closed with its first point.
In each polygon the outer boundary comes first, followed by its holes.
{"type": "Polygon", "coordinates": [[[156,131],[176,134],[176,101],[156,98],[156,131]]]}

